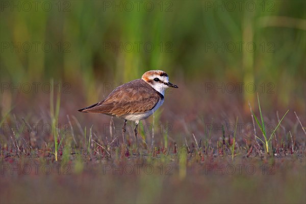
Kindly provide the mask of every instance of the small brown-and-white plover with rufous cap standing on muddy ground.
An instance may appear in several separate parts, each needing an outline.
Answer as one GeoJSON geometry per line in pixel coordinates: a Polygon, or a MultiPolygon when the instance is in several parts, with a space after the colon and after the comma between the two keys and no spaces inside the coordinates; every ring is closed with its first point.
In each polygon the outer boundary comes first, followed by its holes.
{"type": "Polygon", "coordinates": [[[139,121],[149,117],[164,103],[165,90],[169,87],[179,88],[169,82],[166,72],[161,70],[147,71],[141,79],[118,86],[105,100],[79,111],[102,113],[124,119],[122,127],[124,145],[126,121],[134,121],[136,124],[134,133],[138,146],[137,127],[139,121]]]}

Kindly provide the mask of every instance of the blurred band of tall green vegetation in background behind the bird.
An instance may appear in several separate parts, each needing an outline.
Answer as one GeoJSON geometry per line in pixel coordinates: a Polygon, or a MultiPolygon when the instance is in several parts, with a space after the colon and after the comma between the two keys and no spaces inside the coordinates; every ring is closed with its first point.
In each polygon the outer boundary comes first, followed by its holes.
{"type": "MultiPolygon", "coordinates": [[[[273,83],[284,105],[293,96],[304,101],[305,1],[41,1],[30,6],[1,2],[2,82],[54,78],[81,84],[90,96],[97,83],[124,83],[162,69],[171,81],[186,84],[273,83]]],[[[245,101],[254,95],[245,92],[245,101]]]]}

